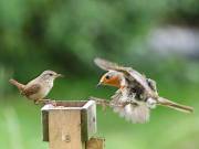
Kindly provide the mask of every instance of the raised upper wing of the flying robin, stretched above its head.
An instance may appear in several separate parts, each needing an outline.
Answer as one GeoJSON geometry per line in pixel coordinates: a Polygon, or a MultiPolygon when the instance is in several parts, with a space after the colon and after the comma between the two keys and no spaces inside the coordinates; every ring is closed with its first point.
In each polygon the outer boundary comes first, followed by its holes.
{"type": "Polygon", "coordinates": [[[132,67],[124,67],[121,66],[116,63],[103,60],[103,58],[95,58],[94,60],[95,64],[105,70],[105,71],[118,71],[125,74],[125,76],[129,79],[129,81],[136,81],[140,86],[143,86],[147,93],[149,94],[154,94],[154,92],[151,91],[151,88],[148,86],[147,79],[145,76],[143,76],[140,73],[138,73],[137,71],[133,70],[132,67]]]}

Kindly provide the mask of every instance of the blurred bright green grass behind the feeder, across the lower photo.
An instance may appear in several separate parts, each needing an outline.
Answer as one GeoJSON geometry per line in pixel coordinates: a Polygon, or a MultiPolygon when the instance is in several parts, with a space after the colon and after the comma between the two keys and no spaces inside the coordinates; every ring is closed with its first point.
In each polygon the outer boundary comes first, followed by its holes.
{"type": "MultiPolygon", "coordinates": [[[[115,91],[94,89],[94,79],[57,83],[49,95],[52,98],[86,99],[90,95],[108,97],[115,91]],[[86,86],[86,87],[85,87],[86,86]],[[75,88],[75,89],[74,89],[75,88]],[[66,89],[66,91],[65,91],[66,89]]],[[[105,137],[106,149],[198,149],[199,148],[199,93],[198,85],[160,83],[160,95],[195,107],[195,113],[182,114],[158,107],[151,111],[148,124],[129,124],[111,109],[97,108],[97,136],[105,137]]],[[[42,142],[40,106],[13,94],[0,104],[1,149],[46,149],[42,142]]]]}

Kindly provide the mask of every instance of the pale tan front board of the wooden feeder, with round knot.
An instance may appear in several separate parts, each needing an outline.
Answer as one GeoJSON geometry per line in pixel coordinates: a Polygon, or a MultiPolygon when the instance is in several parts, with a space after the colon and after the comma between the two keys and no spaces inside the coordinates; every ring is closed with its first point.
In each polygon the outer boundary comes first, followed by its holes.
{"type": "Polygon", "coordinates": [[[49,110],[50,149],[83,149],[81,110],[49,110]]]}

